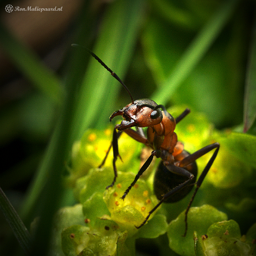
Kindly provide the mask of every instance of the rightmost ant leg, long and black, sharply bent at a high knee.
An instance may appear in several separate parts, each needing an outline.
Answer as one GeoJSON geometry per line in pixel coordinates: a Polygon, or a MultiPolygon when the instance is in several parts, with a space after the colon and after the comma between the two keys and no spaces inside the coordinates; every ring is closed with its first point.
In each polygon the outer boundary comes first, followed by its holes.
{"type": "Polygon", "coordinates": [[[197,182],[196,182],[196,189],[194,190],[194,193],[190,199],[190,202],[188,203],[188,206],[187,206],[187,209],[186,209],[186,212],[185,212],[185,233],[183,234],[183,237],[186,236],[187,234],[187,214],[188,214],[188,211],[190,210],[190,207],[191,207],[191,204],[194,200],[194,197],[196,196],[196,193],[199,189],[199,187],[201,186],[204,178],[206,177],[209,169],[211,168],[212,166],[212,163],[214,162],[217,154],[218,154],[218,151],[219,151],[219,143],[216,142],[214,144],[211,144],[211,145],[208,145],[206,147],[203,147],[201,150],[198,150],[196,152],[194,152],[193,154],[191,154],[190,156],[187,156],[186,158],[184,158],[183,160],[181,160],[180,162],[180,165],[187,165],[188,162],[191,163],[193,161],[195,161],[197,158],[205,155],[206,153],[208,153],[209,151],[213,150],[213,149],[216,149],[214,152],[213,152],[213,155],[212,157],[210,158],[210,160],[208,161],[206,167],[204,167],[203,169],[203,172],[201,173],[201,175],[199,176],[197,182]]]}

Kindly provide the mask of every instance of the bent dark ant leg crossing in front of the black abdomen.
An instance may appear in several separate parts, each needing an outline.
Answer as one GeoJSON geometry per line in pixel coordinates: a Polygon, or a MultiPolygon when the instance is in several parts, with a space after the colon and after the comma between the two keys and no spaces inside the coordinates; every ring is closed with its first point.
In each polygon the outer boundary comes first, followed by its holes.
{"type": "MultiPolygon", "coordinates": [[[[158,202],[156,204],[156,206],[149,212],[148,216],[145,218],[145,221],[141,223],[141,225],[139,227],[136,228],[141,228],[142,226],[144,226],[144,224],[147,222],[147,220],[149,219],[150,215],[155,212],[155,210],[166,200],[168,199],[170,196],[172,196],[173,194],[177,193],[178,191],[182,190],[183,187],[187,186],[187,183],[189,183],[191,180],[193,180],[194,176],[192,173],[190,173],[189,171],[187,171],[186,169],[183,169],[181,167],[175,166],[175,165],[170,165],[171,169],[173,172],[176,173],[180,173],[184,176],[188,177],[188,180],[181,183],[180,185],[178,185],[177,187],[173,188],[172,190],[168,191],[166,194],[163,195],[163,198],[160,200],[160,202],[158,202]]],[[[168,168],[168,166],[166,166],[168,168]]]]}

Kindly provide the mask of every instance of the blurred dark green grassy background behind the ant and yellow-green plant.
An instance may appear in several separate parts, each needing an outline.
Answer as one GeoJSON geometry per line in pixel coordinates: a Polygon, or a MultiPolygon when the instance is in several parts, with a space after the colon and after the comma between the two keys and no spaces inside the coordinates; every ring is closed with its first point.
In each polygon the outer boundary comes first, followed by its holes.
{"type": "MultiPolygon", "coordinates": [[[[11,13],[6,4],[0,9],[0,187],[27,227],[43,211],[33,252],[47,251],[55,209],[74,203],[60,178],[71,145],[89,127],[104,129],[111,113],[131,101],[72,43],[97,54],[134,99],[185,104],[217,129],[256,134],[255,1],[37,2],[63,7],[59,12],[16,11],[35,6],[17,1],[11,13]]],[[[0,248],[17,253],[2,216],[0,223],[0,248]]]]}

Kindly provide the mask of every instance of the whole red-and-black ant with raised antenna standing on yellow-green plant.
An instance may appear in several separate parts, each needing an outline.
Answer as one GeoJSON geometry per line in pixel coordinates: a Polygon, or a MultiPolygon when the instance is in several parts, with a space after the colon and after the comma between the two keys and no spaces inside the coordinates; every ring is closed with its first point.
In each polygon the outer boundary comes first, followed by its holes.
{"type": "MultiPolygon", "coordinates": [[[[78,45],[73,44],[73,46],[78,45]]],[[[104,165],[107,155],[109,155],[110,149],[113,147],[114,158],[112,163],[114,168],[114,180],[109,186],[106,187],[106,189],[114,186],[114,183],[116,182],[117,170],[115,162],[117,157],[120,157],[118,150],[118,138],[121,135],[121,132],[125,132],[127,135],[132,137],[132,139],[145,144],[147,147],[151,147],[153,151],[151,152],[150,157],[146,160],[144,165],[142,165],[139,172],[135,176],[134,181],[124,192],[121,199],[125,199],[139,177],[144,171],[146,171],[147,167],[149,167],[154,156],[157,158],[160,157],[162,160],[158,165],[153,183],[156,197],[160,201],[149,212],[145,218],[145,221],[136,228],[141,228],[144,226],[150,215],[160,206],[160,204],[163,202],[180,201],[192,190],[192,185],[196,185],[196,189],[194,190],[194,193],[185,211],[185,233],[183,234],[185,237],[188,228],[188,211],[199,187],[203,182],[204,177],[206,177],[209,168],[211,168],[212,163],[217,156],[219,143],[216,142],[214,144],[203,147],[202,149],[192,154],[188,153],[186,150],[184,150],[183,144],[177,140],[177,135],[174,130],[176,124],[178,124],[178,122],[180,122],[187,114],[190,113],[190,109],[185,109],[181,115],[174,119],[173,116],[166,111],[165,106],[157,105],[153,100],[134,100],[129,89],[121,81],[119,76],[117,76],[97,55],[95,55],[87,48],[85,48],[85,50],[96,60],[98,60],[98,62],[103,65],[104,68],[108,70],[117,81],[121,83],[131,98],[130,104],[125,106],[123,109],[115,111],[110,116],[110,121],[115,116],[119,115],[123,117],[123,120],[121,121],[121,124],[115,126],[111,145],[106,152],[106,156],[103,162],[99,166],[100,168],[104,165]],[[136,127],[136,130],[131,129],[131,127],[136,127]],[[147,136],[145,136],[142,127],[147,127],[147,136]],[[117,133],[116,130],[119,132],[117,133]],[[206,167],[204,167],[203,172],[196,181],[197,165],[195,161],[213,149],[215,149],[215,151],[213,152],[212,157],[209,159],[206,167]]]]}

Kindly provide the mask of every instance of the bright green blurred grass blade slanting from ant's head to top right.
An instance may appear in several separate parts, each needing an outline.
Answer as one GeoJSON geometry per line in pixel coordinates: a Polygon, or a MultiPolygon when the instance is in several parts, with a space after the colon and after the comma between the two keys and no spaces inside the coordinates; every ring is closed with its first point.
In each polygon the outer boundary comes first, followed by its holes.
{"type": "Polygon", "coordinates": [[[238,0],[229,0],[219,8],[217,13],[209,19],[209,22],[202,28],[201,32],[187,48],[186,52],[173,69],[169,78],[152,95],[152,99],[165,105],[171,98],[173,91],[184,81],[194,66],[202,59],[204,54],[213,44],[219,33],[227,24],[238,0]]]}

